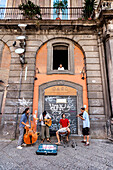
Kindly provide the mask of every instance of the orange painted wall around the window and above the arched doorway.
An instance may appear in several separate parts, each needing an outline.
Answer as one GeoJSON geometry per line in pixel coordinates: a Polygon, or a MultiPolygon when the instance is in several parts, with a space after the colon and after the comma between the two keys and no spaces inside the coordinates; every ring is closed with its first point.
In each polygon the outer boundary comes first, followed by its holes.
{"type": "Polygon", "coordinates": [[[88,98],[87,98],[87,86],[86,79],[81,79],[80,71],[84,67],[84,55],[79,47],[75,46],[74,49],[74,62],[75,62],[75,75],[67,74],[53,74],[46,75],[47,72],[47,43],[44,44],[38,51],[36,56],[36,77],[38,80],[34,83],[34,99],[33,99],[33,113],[35,110],[38,111],[38,91],[39,86],[43,83],[50,82],[53,80],[67,80],[83,86],[83,105],[86,105],[88,110],[88,98]],[[37,68],[40,73],[37,72],[37,68]]]}

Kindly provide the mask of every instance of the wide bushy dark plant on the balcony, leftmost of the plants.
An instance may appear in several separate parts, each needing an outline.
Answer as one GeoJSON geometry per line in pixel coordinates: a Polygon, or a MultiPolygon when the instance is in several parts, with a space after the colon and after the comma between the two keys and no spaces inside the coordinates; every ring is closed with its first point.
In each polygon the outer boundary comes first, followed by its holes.
{"type": "Polygon", "coordinates": [[[33,17],[36,17],[38,19],[41,19],[40,6],[35,5],[30,0],[28,0],[26,3],[20,4],[18,7],[20,10],[23,11],[22,14],[26,18],[32,19],[33,17]]]}

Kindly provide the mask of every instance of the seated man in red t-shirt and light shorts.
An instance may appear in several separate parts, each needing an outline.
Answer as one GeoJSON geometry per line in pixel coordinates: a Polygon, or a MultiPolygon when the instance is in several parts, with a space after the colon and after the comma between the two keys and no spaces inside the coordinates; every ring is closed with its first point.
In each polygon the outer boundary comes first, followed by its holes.
{"type": "Polygon", "coordinates": [[[67,141],[68,141],[68,136],[70,134],[70,123],[69,120],[65,118],[65,114],[62,114],[62,119],[60,119],[60,129],[56,132],[56,137],[58,139],[58,142],[56,143],[57,145],[60,144],[60,138],[59,138],[59,133],[60,132],[68,132],[67,134],[67,141]]]}

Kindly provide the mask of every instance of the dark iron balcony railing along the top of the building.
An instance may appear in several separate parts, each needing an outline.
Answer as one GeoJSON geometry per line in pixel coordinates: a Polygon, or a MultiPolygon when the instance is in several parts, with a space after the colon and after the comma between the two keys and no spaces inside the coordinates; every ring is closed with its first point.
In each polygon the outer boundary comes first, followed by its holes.
{"type": "MultiPolygon", "coordinates": [[[[53,20],[57,18],[57,9],[52,7],[41,7],[42,20],[53,20]]],[[[66,8],[63,12],[60,10],[59,17],[62,20],[74,20],[82,18],[83,7],[66,8]]],[[[22,11],[19,8],[0,8],[0,20],[21,20],[25,19],[22,11]]],[[[37,19],[37,18],[33,18],[37,19]]]]}

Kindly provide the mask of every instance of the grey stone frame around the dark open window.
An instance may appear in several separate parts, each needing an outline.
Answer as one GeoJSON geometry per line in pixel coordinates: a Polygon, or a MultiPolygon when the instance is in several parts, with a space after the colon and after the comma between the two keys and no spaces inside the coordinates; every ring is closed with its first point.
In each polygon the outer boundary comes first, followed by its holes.
{"type": "Polygon", "coordinates": [[[74,43],[66,39],[54,39],[47,43],[47,74],[75,74],[74,73],[74,43]],[[68,46],[68,70],[53,70],[53,47],[55,45],[68,46]]]}

